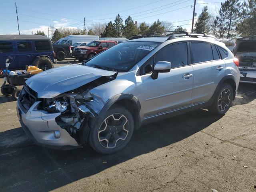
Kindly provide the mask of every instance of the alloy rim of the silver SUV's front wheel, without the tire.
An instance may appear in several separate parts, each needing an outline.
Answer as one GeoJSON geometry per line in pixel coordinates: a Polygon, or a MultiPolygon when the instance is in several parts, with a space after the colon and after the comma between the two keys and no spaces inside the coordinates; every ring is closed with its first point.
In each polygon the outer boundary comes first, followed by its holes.
{"type": "Polygon", "coordinates": [[[105,148],[122,144],[129,132],[129,122],[123,114],[112,114],[104,119],[98,130],[98,140],[105,148]]]}

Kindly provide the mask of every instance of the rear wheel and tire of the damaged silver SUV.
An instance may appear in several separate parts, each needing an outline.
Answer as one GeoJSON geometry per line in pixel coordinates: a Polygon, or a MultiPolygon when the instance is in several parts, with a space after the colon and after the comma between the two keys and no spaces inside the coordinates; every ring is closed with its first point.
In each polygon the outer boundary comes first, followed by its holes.
{"type": "Polygon", "coordinates": [[[233,88],[230,84],[224,83],[220,86],[216,98],[208,111],[216,115],[224,115],[230,108],[233,100],[233,88]]]}

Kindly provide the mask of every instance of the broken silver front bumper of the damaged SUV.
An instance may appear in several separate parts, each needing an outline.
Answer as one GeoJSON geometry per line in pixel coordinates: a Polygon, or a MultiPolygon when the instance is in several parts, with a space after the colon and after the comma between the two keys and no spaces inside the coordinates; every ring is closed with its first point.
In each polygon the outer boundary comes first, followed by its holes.
{"type": "Polygon", "coordinates": [[[39,103],[40,101],[35,102],[25,112],[20,100],[17,101],[17,115],[27,136],[36,144],[48,148],[68,150],[79,147],[76,140],[56,123],[55,118],[60,113],[47,113],[44,110],[38,110],[39,103]]]}

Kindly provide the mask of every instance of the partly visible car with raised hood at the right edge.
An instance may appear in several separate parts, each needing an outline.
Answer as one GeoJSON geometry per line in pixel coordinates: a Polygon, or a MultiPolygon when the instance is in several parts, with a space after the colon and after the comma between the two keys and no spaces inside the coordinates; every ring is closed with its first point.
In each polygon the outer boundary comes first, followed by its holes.
{"type": "Polygon", "coordinates": [[[240,61],[240,82],[256,84],[256,36],[237,39],[233,52],[240,61]]]}

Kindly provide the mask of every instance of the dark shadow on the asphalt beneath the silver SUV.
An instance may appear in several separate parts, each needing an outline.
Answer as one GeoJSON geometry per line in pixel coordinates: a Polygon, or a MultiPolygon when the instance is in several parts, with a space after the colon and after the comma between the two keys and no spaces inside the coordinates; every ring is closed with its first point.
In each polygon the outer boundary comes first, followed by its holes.
{"type": "Polygon", "coordinates": [[[221,117],[199,109],[144,125],[134,132],[126,148],[107,156],[97,154],[89,146],[68,151],[42,148],[33,144],[22,128],[7,130],[0,133],[0,190],[54,190],[183,140],[221,117]]]}

